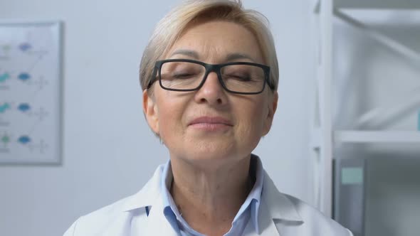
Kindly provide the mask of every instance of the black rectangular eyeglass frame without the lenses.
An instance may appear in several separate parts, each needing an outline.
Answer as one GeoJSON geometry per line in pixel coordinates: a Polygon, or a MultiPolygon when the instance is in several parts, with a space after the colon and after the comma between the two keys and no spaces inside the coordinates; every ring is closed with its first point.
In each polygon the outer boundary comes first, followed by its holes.
{"type": "Polygon", "coordinates": [[[264,91],[264,89],[266,88],[266,84],[268,85],[268,87],[271,88],[271,90],[274,90],[274,85],[270,81],[270,67],[267,66],[267,65],[262,65],[262,64],[258,64],[258,63],[248,63],[248,62],[232,62],[232,63],[223,63],[223,64],[207,64],[207,63],[203,63],[203,62],[201,62],[199,60],[190,60],[190,59],[157,60],[157,62],[154,64],[154,70],[153,70],[153,74],[152,74],[152,75],[154,75],[154,79],[153,80],[150,80],[149,85],[147,85],[147,89],[149,89],[153,85],[153,83],[156,82],[156,80],[159,80],[159,85],[164,90],[177,91],[177,92],[191,92],[191,91],[196,91],[196,90],[199,90],[204,85],[204,82],[206,82],[207,77],[209,76],[209,73],[211,73],[211,72],[214,72],[214,73],[217,74],[217,77],[219,79],[219,82],[221,84],[221,87],[223,87],[224,90],[226,90],[228,92],[231,92],[231,93],[235,93],[235,94],[239,94],[239,95],[256,95],[256,94],[259,94],[259,93],[261,93],[261,92],[264,91]],[[194,89],[187,89],[187,90],[172,89],[172,88],[169,88],[169,87],[164,87],[164,85],[162,85],[162,77],[161,77],[162,65],[164,63],[172,63],[172,62],[186,62],[186,63],[195,63],[195,64],[203,65],[204,68],[206,68],[206,72],[204,73],[204,77],[201,79],[200,84],[196,88],[194,88],[194,89]],[[224,82],[223,82],[223,80],[221,78],[221,68],[223,68],[226,65],[253,65],[253,66],[256,66],[258,68],[263,69],[263,71],[264,71],[264,84],[263,84],[263,88],[261,89],[261,91],[259,91],[259,92],[236,92],[236,91],[229,90],[226,87],[226,85],[224,84],[224,82]]]}

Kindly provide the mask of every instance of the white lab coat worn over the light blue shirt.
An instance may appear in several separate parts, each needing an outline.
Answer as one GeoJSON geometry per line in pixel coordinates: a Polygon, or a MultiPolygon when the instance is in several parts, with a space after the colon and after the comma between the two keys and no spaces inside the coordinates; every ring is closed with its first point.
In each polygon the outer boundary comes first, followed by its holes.
{"type": "MultiPolygon", "coordinates": [[[[177,236],[163,215],[160,191],[163,167],[157,168],[138,193],[80,217],[64,236],[177,236]],[[150,209],[149,216],[146,206],[150,209]]],[[[280,193],[265,171],[258,226],[259,234],[249,220],[243,235],[352,236],[350,230],[310,205],[280,193]]]]}

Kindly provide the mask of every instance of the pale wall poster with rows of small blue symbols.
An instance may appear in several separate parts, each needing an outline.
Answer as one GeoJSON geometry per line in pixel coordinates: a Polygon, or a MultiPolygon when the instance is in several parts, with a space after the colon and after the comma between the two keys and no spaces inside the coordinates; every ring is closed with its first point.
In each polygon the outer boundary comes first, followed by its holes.
{"type": "Polygon", "coordinates": [[[61,163],[61,29],[0,22],[0,165],[61,163]]]}

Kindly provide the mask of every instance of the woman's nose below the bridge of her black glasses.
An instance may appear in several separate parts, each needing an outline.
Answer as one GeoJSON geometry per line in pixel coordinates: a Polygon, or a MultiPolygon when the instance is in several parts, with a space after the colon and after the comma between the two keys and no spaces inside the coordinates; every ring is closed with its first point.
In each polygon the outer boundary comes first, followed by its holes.
{"type": "Polygon", "coordinates": [[[215,72],[209,73],[204,85],[195,94],[195,100],[199,103],[209,103],[211,105],[221,105],[226,103],[226,92],[219,82],[219,77],[215,72]]]}

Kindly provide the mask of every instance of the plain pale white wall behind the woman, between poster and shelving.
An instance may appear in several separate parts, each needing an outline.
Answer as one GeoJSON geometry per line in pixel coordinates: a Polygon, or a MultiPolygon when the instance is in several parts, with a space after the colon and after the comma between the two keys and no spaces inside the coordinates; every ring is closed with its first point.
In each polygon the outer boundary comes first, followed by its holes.
{"type": "MultiPolygon", "coordinates": [[[[159,18],[179,1],[1,1],[1,19],[62,20],[62,166],[0,166],[0,235],[62,235],[80,215],[140,190],[167,151],[141,109],[138,64],[159,18]]],[[[312,201],[307,1],[245,1],[266,14],[280,61],[278,112],[255,153],[280,191],[312,201]]]]}

